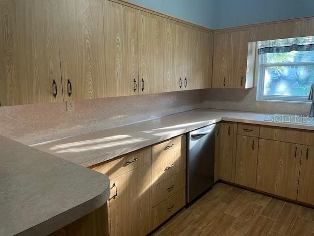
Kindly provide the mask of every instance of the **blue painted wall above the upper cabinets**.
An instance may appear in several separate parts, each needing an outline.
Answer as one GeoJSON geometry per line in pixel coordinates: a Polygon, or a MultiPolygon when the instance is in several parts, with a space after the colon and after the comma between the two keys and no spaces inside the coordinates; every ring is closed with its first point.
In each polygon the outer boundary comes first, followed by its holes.
{"type": "Polygon", "coordinates": [[[131,1],[211,29],[314,16],[314,0],[131,1]]]}

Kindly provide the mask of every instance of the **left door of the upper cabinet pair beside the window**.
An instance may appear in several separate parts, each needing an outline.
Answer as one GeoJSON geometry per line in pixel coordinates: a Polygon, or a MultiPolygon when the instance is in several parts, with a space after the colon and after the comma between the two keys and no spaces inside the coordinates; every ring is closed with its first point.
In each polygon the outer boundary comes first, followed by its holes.
{"type": "Polygon", "coordinates": [[[214,35],[212,88],[229,88],[230,71],[230,35],[220,33],[214,35]]]}

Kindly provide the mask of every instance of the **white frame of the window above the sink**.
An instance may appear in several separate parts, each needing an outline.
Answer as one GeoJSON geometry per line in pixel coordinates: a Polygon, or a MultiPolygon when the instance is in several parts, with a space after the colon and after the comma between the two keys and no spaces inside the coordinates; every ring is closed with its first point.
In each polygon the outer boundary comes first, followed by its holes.
{"type": "Polygon", "coordinates": [[[267,101],[267,102],[290,102],[290,103],[308,103],[311,104],[312,101],[308,100],[308,97],[303,96],[283,96],[283,95],[264,95],[264,78],[265,78],[265,70],[270,66],[301,66],[301,65],[314,65],[314,63],[310,62],[282,62],[282,63],[262,63],[263,57],[265,54],[257,55],[257,66],[256,66],[256,75],[257,75],[257,92],[256,92],[256,100],[257,101],[267,101]]]}

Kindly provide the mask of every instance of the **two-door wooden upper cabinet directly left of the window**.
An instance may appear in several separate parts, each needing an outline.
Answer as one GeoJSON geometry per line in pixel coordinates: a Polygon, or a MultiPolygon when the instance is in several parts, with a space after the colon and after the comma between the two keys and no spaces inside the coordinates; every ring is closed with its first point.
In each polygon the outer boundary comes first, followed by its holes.
{"type": "Polygon", "coordinates": [[[246,83],[249,30],[214,35],[212,88],[249,88],[246,83]]]}

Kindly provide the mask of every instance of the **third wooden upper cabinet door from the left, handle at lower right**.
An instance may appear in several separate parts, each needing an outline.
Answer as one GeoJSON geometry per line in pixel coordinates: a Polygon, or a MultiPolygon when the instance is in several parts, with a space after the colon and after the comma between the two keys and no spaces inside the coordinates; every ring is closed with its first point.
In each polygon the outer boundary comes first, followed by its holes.
{"type": "Polygon", "coordinates": [[[105,1],[104,22],[107,95],[139,94],[136,10],[105,1]]]}

